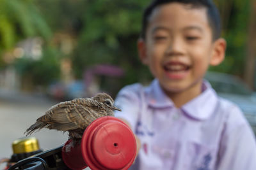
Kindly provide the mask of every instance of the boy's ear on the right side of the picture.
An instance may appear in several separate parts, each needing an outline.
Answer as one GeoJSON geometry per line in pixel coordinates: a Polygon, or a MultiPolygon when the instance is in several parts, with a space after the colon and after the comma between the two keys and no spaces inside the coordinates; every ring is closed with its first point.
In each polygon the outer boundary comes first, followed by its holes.
{"type": "Polygon", "coordinates": [[[223,38],[219,38],[214,42],[214,49],[210,60],[211,66],[218,66],[225,59],[227,42],[223,38]]]}

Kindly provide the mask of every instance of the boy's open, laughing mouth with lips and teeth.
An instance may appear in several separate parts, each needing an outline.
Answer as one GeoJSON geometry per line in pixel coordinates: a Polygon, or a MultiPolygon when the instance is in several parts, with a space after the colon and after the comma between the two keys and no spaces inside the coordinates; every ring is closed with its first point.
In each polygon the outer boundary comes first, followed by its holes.
{"type": "Polygon", "coordinates": [[[190,68],[191,66],[180,62],[169,62],[163,65],[166,75],[172,79],[184,78],[188,74],[190,68]]]}

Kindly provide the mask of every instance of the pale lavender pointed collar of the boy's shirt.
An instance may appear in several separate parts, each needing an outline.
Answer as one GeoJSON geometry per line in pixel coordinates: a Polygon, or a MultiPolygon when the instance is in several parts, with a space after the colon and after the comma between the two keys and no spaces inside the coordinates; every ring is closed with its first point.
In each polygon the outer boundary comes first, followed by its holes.
{"type": "MultiPolygon", "coordinates": [[[[148,105],[153,108],[172,108],[175,107],[172,99],[164,93],[155,79],[146,89],[148,105]]],[[[218,103],[216,92],[212,89],[208,81],[203,81],[202,93],[184,104],[180,109],[189,117],[196,120],[206,120],[214,113],[218,103]]]]}

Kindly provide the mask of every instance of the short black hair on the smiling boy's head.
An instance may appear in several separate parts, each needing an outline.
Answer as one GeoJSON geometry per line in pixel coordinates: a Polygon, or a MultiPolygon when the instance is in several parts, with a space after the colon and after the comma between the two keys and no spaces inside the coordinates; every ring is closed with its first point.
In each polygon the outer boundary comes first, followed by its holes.
{"type": "Polygon", "coordinates": [[[148,7],[145,9],[143,13],[143,21],[142,21],[142,29],[141,29],[141,38],[145,39],[146,31],[148,27],[148,20],[152,15],[154,9],[166,3],[182,3],[189,4],[191,8],[206,8],[207,9],[207,18],[209,21],[209,25],[212,29],[212,39],[216,40],[220,38],[221,34],[221,20],[220,13],[218,8],[216,8],[215,4],[212,0],[153,0],[148,7]]]}

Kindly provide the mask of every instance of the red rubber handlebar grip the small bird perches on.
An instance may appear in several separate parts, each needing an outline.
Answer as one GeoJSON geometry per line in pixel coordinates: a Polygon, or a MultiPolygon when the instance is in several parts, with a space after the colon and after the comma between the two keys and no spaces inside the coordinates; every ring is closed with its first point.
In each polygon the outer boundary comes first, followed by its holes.
{"type": "Polygon", "coordinates": [[[136,157],[136,140],[131,129],[115,117],[94,120],[84,131],[81,144],[68,140],[62,157],[70,169],[128,169],[136,157]]]}

